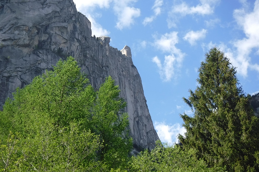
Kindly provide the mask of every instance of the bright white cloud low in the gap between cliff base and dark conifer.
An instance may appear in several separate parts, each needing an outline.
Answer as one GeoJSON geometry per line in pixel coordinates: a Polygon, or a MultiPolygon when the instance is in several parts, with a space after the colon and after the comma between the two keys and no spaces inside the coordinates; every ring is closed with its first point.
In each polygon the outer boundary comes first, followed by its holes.
{"type": "Polygon", "coordinates": [[[156,122],[155,121],[155,130],[157,130],[157,135],[159,136],[161,142],[167,142],[171,145],[174,142],[178,142],[178,134],[184,135],[186,132],[185,128],[180,124],[167,125],[164,122],[156,122]]]}

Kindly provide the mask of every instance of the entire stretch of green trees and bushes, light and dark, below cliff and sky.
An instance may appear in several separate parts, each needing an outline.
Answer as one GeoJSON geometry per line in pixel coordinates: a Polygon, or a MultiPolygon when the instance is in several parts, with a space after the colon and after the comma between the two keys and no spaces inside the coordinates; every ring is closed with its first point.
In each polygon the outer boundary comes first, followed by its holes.
{"type": "Polygon", "coordinates": [[[180,144],[129,156],[126,103],[111,77],[96,91],[72,57],[17,88],[0,111],[0,171],[259,171],[259,123],[217,48],[184,101],[180,144]]]}

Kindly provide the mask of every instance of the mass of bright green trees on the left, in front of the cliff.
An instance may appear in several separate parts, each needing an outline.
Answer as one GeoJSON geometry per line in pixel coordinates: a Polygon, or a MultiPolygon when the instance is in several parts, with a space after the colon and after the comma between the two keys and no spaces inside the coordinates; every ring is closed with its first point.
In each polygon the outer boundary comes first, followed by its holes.
{"type": "Polygon", "coordinates": [[[70,56],[7,99],[0,111],[0,170],[110,171],[125,166],[132,138],[127,113],[121,113],[126,103],[120,90],[108,77],[94,91],[80,70],[70,56]]]}

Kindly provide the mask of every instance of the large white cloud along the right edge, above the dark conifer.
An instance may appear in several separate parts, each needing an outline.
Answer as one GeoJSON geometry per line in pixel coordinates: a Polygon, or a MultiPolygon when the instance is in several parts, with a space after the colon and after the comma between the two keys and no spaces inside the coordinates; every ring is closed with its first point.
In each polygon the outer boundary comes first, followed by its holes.
{"type": "Polygon", "coordinates": [[[252,11],[247,11],[247,3],[243,4],[243,8],[236,9],[233,15],[238,26],[245,33],[245,38],[232,41],[232,47],[228,47],[224,43],[217,45],[212,42],[203,47],[212,48],[213,46],[218,46],[230,59],[232,65],[237,67],[237,73],[247,77],[248,69],[259,72],[259,65],[252,63],[250,57],[252,50],[256,50],[257,54],[255,55],[259,55],[259,0],[255,1],[252,11]]]}

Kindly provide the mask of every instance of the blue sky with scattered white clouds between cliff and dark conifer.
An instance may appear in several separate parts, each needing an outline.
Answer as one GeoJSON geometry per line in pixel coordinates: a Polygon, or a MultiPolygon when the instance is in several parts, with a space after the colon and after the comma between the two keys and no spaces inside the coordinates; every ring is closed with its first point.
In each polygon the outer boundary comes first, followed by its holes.
{"type": "Polygon", "coordinates": [[[237,67],[245,93],[259,92],[259,0],[74,0],[92,35],[131,48],[162,142],[184,133],[182,101],[195,90],[204,54],[217,46],[237,67]]]}

